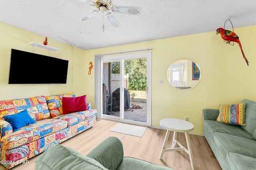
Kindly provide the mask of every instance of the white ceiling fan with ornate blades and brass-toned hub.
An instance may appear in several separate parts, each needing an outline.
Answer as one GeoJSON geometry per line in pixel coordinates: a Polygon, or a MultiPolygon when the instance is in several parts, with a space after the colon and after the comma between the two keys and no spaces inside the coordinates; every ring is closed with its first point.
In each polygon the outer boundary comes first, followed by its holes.
{"type": "MultiPolygon", "coordinates": [[[[113,14],[108,11],[120,12],[120,13],[124,13],[124,14],[132,14],[132,15],[137,15],[137,16],[140,14],[140,8],[130,7],[130,6],[112,6],[110,0],[96,0],[95,2],[92,2],[90,0],[79,0],[79,1],[85,2],[92,6],[96,6],[96,8],[98,8],[98,10],[94,10],[94,11],[90,12],[89,14],[87,14],[86,16],[83,16],[82,18],[80,18],[79,20],[82,22],[83,21],[86,22],[86,21],[92,19],[97,14],[102,13],[103,15],[105,15],[108,18],[108,20],[113,25],[113,27],[118,28],[121,26],[121,24],[118,22],[118,20],[116,20],[116,18],[113,16],[113,14]]],[[[104,31],[104,24],[102,26],[102,29],[104,31]]]]}

